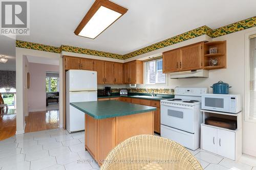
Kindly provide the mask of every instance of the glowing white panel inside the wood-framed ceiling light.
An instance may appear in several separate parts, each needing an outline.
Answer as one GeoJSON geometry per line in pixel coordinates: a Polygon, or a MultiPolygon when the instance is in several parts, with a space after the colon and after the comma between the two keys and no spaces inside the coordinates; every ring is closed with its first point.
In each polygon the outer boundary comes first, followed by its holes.
{"type": "Polygon", "coordinates": [[[94,39],[121,15],[116,11],[101,6],[78,35],[94,39]]]}

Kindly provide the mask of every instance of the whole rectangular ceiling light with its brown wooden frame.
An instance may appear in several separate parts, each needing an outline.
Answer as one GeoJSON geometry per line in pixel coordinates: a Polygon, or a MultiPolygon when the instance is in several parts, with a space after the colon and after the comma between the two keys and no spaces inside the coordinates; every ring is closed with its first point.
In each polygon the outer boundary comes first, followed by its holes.
{"type": "Polygon", "coordinates": [[[75,35],[95,39],[127,12],[109,0],[96,0],[75,30],[75,35]]]}

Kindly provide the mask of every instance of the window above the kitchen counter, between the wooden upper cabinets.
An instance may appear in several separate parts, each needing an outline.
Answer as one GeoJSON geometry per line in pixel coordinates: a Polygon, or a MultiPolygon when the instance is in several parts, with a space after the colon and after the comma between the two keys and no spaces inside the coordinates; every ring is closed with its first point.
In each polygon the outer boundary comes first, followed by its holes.
{"type": "Polygon", "coordinates": [[[166,77],[163,74],[163,59],[145,62],[146,84],[165,84],[166,77]]]}

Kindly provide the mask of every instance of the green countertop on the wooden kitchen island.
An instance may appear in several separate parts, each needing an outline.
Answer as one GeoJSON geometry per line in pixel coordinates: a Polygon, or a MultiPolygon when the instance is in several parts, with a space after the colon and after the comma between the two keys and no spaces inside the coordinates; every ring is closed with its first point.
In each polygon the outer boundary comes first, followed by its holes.
{"type": "Polygon", "coordinates": [[[156,110],[156,107],[121,101],[74,102],[70,103],[70,105],[89,114],[95,119],[125,116],[156,110]]]}

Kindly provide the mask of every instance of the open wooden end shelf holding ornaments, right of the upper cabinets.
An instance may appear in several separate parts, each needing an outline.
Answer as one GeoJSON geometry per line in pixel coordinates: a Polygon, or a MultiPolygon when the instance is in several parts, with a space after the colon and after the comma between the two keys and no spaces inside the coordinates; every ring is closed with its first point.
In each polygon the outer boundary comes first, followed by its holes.
{"type": "Polygon", "coordinates": [[[204,42],[203,68],[207,70],[227,67],[226,41],[204,42]],[[209,48],[217,47],[216,54],[209,54],[209,48]],[[218,65],[210,65],[211,59],[217,59],[218,65]]]}

